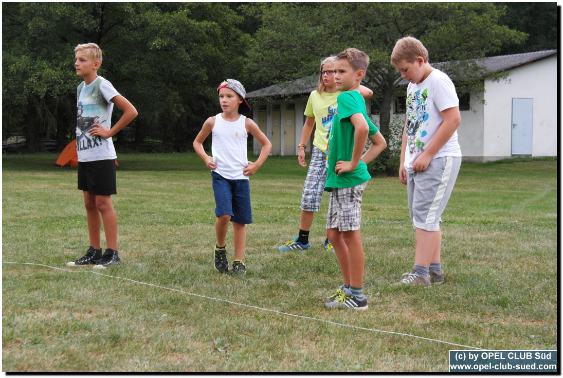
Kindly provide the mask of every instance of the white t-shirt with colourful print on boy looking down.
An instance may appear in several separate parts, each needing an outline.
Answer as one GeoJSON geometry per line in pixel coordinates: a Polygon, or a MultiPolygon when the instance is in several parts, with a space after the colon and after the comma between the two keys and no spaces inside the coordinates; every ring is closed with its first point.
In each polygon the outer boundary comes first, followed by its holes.
{"type": "MultiPolygon", "coordinates": [[[[413,163],[432,141],[444,121],[442,112],[459,105],[455,86],[445,73],[433,70],[425,81],[409,83],[406,88],[406,151],[405,170],[413,172],[413,163]]],[[[434,155],[433,159],[452,156],[461,157],[457,131],[434,155]]]]}

